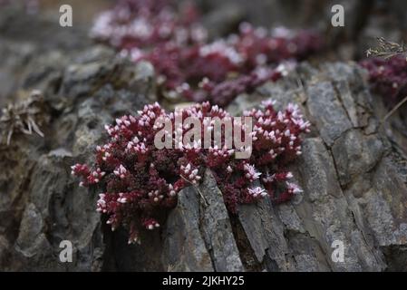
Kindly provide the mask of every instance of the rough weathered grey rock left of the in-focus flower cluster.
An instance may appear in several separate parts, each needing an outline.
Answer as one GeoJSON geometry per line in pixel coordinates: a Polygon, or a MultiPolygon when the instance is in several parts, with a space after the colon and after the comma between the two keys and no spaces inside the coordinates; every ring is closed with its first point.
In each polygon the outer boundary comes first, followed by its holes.
{"type": "MultiPolygon", "coordinates": [[[[91,161],[95,144],[104,137],[105,123],[153,101],[153,71],[149,64],[141,65],[90,48],[83,56],[53,51],[24,68],[24,90],[43,89],[45,102],[58,113],[42,128],[44,139],[16,136],[12,146],[2,145],[2,166],[8,169],[0,173],[0,268],[111,268],[105,254],[109,245],[102,241],[101,217],[95,211],[98,192],[79,188],[70,167],[91,161]],[[65,69],[69,57],[72,62],[65,69]],[[62,240],[73,244],[73,263],[59,260],[62,240]]],[[[131,266],[137,269],[134,263],[131,266]]]]}

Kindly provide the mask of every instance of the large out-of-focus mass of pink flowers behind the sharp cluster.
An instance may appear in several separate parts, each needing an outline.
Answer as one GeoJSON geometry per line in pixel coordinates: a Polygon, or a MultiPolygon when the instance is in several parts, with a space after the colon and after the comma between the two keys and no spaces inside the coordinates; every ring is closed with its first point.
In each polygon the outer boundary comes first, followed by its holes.
{"type": "Polygon", "coordinates": [[[153,64],[169,98],[209,101],[225,106],[238,93],[251,92],[266,81],[276,81],[292,65],[319,51],[318,34],[286,29],[267,31],[240,24],[238,34],[208,42],[192,5],[180,11],[170,1],[126,0],[95,22],[92,36],[121,51],[134,62],[153,64]]]}

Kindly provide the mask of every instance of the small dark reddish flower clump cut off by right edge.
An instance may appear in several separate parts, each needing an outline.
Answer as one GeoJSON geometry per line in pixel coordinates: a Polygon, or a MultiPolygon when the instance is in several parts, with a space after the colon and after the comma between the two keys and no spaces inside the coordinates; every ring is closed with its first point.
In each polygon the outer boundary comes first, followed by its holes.
{"type": "Polygon", "coordinates": [[[373,90],[382,94],[388,104],[394,104],[407,94],[407,61],[404,56],[388,60],[366,59],[361,65],[369,72],[373,90]]]}

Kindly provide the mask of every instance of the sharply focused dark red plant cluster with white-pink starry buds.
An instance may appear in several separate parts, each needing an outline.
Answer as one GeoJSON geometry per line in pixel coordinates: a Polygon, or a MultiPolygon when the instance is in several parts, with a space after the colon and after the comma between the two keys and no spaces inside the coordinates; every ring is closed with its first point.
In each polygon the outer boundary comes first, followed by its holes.
{"type": "MultiPolygon", "coordinates": [[[[96,147],[92,167],[76,164],[72,173],[82,179],[80,185],[103,189],[97,210],[109,217],[112,230],[121,225],[129,228],[130,243],[140,241],[141,228],[160,227],[163,210],[175,207],[180,189],[198,185],[206,168],[212,171],[231,213],[237,213],[237,204],[266,196],[276,203],[286,201],[301,191],[289,181],[293,175],[286,164],[301,154],[300,134],[308,132],[310,124],[296,105],[276,111],[273,104],[264,102],[261,109],[245,112],[253,121],[249,159],[236,159],[234,149],[218,148],[213,143],[203,149],[201,140],[193,140],[192,146],[175,146],[176,131],[182,130],[184,136],[190,130],[176,126],[179,116],[182,120],[197,118],[209,131],[213,128],[206,117],[235,121],[218,106],[204,102],[168,113],[155,103],[145,106],[138,116],[126,115],[107,125],[109,141],[96,147]],[[155,146],[155,135],[162,130],[156,125],[158,120],[174,125],[172,131],[166,131],[174,149],[155,146]]],[[[241,127],[237,128],[247,130],[245,124],[238,124],[241,127]]]]}

